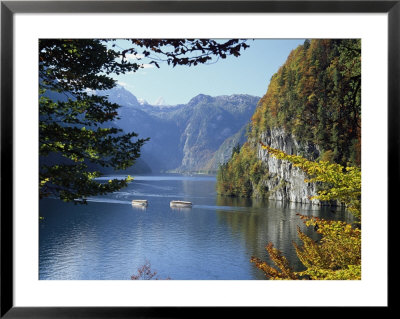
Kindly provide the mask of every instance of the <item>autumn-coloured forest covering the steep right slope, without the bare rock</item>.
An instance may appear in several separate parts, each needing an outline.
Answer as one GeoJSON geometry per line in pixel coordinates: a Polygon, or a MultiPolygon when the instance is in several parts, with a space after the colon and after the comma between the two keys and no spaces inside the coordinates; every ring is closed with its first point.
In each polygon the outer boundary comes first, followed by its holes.
{"type": "MultiPolygon", "coordinates": [[[[256,153],[260,134],[277,127],[301,145],[316,145],[318,157],[309,159],[361,166],[360,40],[306,40],[290,53],[258,103],[246,144],[220,167],[218,193],[265,195],[259,173],[268,169],[248,154],[256,153]]],[[[301,148],[297,155],[309,157],[301,148]]]]}

